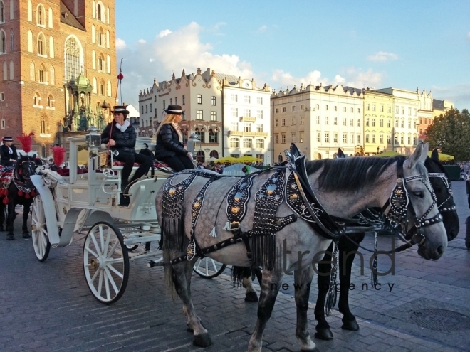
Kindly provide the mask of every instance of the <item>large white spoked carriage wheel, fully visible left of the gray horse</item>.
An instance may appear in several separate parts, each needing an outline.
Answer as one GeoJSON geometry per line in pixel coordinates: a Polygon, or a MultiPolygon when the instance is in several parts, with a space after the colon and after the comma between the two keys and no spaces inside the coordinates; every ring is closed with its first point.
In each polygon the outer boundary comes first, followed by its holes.
{"type": "Polygon", "coordinates": [[[83,271],[95,299],[116,302],[129,279],[129,256],[124,240],[114,225],[102,221],[93,225],[83,246],[83,271]]]}

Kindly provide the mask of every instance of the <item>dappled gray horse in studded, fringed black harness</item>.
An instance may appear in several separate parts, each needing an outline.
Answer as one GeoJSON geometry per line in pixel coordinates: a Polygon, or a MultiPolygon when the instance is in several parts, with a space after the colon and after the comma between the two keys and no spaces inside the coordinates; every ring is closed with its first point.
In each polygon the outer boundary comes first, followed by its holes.
{"type": "MultiPolygon", "coordinates": [[[[420,233],[424,239],[418,253],[425,259],[438,259],[447,248],[447,236],[422,164],[427,149],[427,144],[419,144],[401,166],[395,159],[374,158],[336,159],[320,169],[307,163],[308,187],[323,205],[325,213],[349,218],[366,208],[384,206],[392,190],[397,189],[399,172],[406,180],[402,183],[404,188],[401,188],[407,194],[404,203],[409,204],[399,223],[404,230],[409,230],[416,220],[422,224],[420,233]],[[427,225],[424,225],[425,220],[427,225]]],[[[169,178],[157,193],[157,215],[162,226],[162,247],[167,264],[165,277],[167,282],[174,284],[182,299],[183,312],[189,329],[193,331],[195,345],[211,344],[207,330],[194,311],[189,289],[196,260],[194,254],[202,252],[229,265],[263,267],[258,319],[249,341],[249,351],[261,351],[263,331],[281,287],[283,269],[293,270],[294,281],[301,287],[295,298],[296,337],[301,340],[302,351],[317,351],[310,339],[307,319],[314,272],[312,263],[320,259],[318,252],[327,250],[331,240],[323,237],[320,231],[313,230],[302,215],[296,217],[293,214],[293,208],[287,203],[292,199],[287,195],[293,194],[288,190],[288,180],[293,172],[275,168],[246,176],[244,182],[231,177],[221,180],[220,175],[207,171],[184,171],[169,178]],[[248,196],[246,188],[251,188],[248,196]],[[233,197],[230,198],[231,195],[233,197]],[[276,208],[268,208],[266,205],[269,204],[276,208]],[[239,213],[248,216],[242,217],[238,224],[234,219],[239,213]],[[259,229],[272,231],[266,233],[259,229]],[[252,235],[248,244],[240,240],[239,233],[252,235]],[[251,260],[247,249],[251,250],[251,260]]],[[[302,192],[293,191],[296,194],[302,192]]]]}

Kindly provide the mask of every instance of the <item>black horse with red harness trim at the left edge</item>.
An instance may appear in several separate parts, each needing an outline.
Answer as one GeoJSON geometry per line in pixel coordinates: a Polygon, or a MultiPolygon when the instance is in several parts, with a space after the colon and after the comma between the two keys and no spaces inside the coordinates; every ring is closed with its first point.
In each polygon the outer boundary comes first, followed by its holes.
{"type": "Polygon", "coordinates": [[[13,223],[16,217],[15,206],[23,206],[23,238],[29,238],[28,215],[36,196],[36,188],[31,182],[31,176],[36,174],[36,155],[23,156],[16,162],[16,166],[0,170],[1,189],[0,197],[0,231],[4,231],[5,210],[6,212],[6,235],[7,240],[14,240],[13,223]]]}

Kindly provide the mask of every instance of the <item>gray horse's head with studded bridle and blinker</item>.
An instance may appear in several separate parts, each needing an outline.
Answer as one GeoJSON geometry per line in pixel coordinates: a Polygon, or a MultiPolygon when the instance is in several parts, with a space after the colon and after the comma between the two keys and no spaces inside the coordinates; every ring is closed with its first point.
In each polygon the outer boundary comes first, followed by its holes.
{"type": "MultiPolygon", "coordinates": [[[[407,198],[401,204],[407,204],[407,230],[411,230],[413,226],[417,228],[417,234],[412,240],[419,245],[418,254],[424,259],[439,259],[447,248],[447,235],[442,215],[437,208],[436,196],[424,167],[428,149],[429,144],[419,144],[414,153],[403,162],[402,168],[400,163],[397,163],[397,175],[399,180],[402,179],[404,194],[401,194],[399,188],[395,188],[397,198],[392,196],[391,206],[393,209],[394,199],[400,204],[399,196],[407,198]]],[[[398,185],[399,183],[400,181],[397,181],[398,185]]]]}

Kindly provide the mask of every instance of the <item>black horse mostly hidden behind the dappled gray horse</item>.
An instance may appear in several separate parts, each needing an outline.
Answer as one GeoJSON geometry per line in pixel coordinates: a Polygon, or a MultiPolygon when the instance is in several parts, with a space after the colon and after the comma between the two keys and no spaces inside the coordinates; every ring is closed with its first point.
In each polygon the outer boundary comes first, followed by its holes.
{"type": "MultiPolygon", "coordinates": [[[[439,162],[437,150],[434,149],[431,158],[427,158],[424,166],[429,173],[429,181],[432,184],[434,193],[437,198],[437,206],[444,218],[444,227],[447,232],[447,239],[453,240],[459,234],[459,217],[456,213],[454,198],[452,197],[449,175],[444,169],[444,166],[439,162]],[[447,179],[445,179],[443,176],[447,179]]],[[[364,240],[365,233],[352,233],[347,236],[341,236],[338,241],[338,255],[339,255],[339,277],[340,277],[340,299],[338,302],[338,311],[343,314],[342,329],[357,331],[359,325],[355,316],[349,309],[349,287],[351,283],[351,270],[352,262],[355,254],[359,249],[359,244],[364,240]]],[[[328,251],[333,251],[333,245],[328,248],[328,251]]],[[[323,275],[318,275],[318,297],[315,306],[315,319],[318,321],[316,326],[316,338],[322,340],[330,340],[333,338],[333,333],[330,326],[325,319],[325,299],[330,287],[330,276],[325,273],[331,272],[331,264],[325,263],[330,261],[331,257],[325,255],[323,263],[318,264],[318,272],[323,275]]]]}

